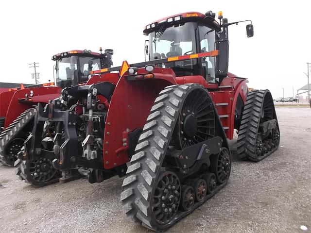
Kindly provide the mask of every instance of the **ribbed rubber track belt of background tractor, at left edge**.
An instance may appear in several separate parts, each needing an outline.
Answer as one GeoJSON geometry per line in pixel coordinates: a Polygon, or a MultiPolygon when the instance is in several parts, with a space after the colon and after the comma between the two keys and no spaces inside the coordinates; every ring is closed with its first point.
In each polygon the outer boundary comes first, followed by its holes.
{"type": "Polygon", "coordinates": [[[9,163],[5,158],[5,147],[31,120],[34,119],[36,111],[36,108],[27,109],[0,134],[0,162],[4,165],[14,166],[14,164],[9,163]]]}

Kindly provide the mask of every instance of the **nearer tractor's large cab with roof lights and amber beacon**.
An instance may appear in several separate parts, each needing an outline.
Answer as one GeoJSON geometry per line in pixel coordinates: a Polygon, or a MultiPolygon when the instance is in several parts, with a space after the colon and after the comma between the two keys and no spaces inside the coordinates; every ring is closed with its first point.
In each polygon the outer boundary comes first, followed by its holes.
{"type": "Polygon", "coordinates": [[[148,24],[143,31],[149,37],[145,44],[145,56],[151,61],[189,55],[189,60],[168,62],[160,67],[172,68],[177,77],[201,75],[207,83],[221,83],[228,70],[227,26],[233,23],[228,24],[222,14],[218,18],[220,22],[216,21],[211,11],[205,15],[188,12],[148,24]],[[217,57],[191,59],[194,57],[191,54],[213,50],[219,50],[217,57]]]}

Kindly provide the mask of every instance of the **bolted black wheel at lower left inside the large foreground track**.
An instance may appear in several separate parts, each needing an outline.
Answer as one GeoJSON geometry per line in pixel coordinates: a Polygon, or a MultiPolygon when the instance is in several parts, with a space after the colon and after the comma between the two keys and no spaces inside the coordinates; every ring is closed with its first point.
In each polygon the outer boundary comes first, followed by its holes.
{"type": "Polygon", "coordinates": [[[175,216],[180,202],[180,182],[175,173],[162,171],[153,193],[152,212],[158,224],[164,225],[175,216]]]}

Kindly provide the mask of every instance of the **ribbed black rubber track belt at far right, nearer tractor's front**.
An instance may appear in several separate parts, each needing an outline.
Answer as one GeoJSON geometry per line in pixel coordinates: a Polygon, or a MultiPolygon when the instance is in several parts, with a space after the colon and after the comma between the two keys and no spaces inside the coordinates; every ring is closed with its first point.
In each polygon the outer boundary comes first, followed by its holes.
{"type": "MultiPolygon", "coordinates": [[[[269,153],[266,153],[260,157],[257,157],[255,150],[256,137],[259,130],[260,113],[263,108],[264,98],[268,92],[270,91],[252,90],[247,94],[237,141],[239,159],[249,159],[259,162],[277,149],[276,147],[269,153]]],[[[274,115],[276,116],[275,109],[274,115]]]]}

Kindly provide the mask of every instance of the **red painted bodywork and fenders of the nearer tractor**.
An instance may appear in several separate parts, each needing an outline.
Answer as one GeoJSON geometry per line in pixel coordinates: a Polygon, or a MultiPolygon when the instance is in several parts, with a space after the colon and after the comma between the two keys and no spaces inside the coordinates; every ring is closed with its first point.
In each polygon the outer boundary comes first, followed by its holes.
{"type": "MultiPolygon", "coordinates": [[[[218,51],[216,50],[216,52],[204,55],[199,53],[198,56],[191,54],[191,57],[189,55],[173,57],[171,61],[217,55],[218,51]]],[[[129,75],[127,71],[121,77],[120,73],[107,73],[111,69],[93,71],[93,74],[99,75],[94,75],[86,83],[92,84],[108,81],[116,84],[111,103],[109,104],[105,101],[108,108],[103,146],[105,169],[120,166],[129,161],[127,152],[128,133],[144,126],[158,93],[169,85],[199,83],[208,89],[218,115],[228,115],[222,118],[221,121],[227,138],[233,138],[236,102],[239,95],[245,102],[247,79],[228,73],[228,77],[219,85],[224,88],[219,88],[218,84],[207,83],[205,78],[200,75],[175,77],[175,73],[169,68],[155,67],[155,70],[152,72],[155,76],[153,79],[139,81],[127,81],[126,76],[129,75]],[[227,103],[227,105],[218,106],[217,103],[227,103]]],[[[121,70],[122,67],[119,69],[121,70]]],[[[116,70],[116,67],[113,70],[116,70]]],[[[137,75],[145,73],[146,70],[144,68],[138,68],[137,75]]]]}

